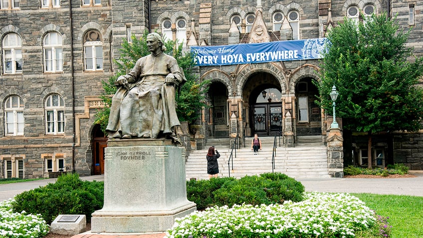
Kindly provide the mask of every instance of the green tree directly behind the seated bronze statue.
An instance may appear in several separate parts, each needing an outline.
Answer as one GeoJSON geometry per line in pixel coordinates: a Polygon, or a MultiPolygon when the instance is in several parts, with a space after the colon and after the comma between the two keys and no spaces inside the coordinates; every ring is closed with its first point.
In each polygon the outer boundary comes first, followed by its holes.
{"type": "MultiPolygon", "coordinates": [[[[102,81],[104,94],[101,96],[101,99],[106,106],[97,111],[94,124],[100,124],[103,132],[105,132],[109,121],[110,106],[112,104],[111,96],[115,94],[117,90],[114,84],[116,79],[120,75],[128,73],[139,58],[150,54],[146,42],[147,35],[148,31],[144,32],[140,39],[132,35],[131,43],[124,39],[122,47],[119,49],[119,60],[114,61],[117,65],[116,75],[110,77],[107,81],[102,81]]],[[[179,66],[184,69],[184,74],[187,78],[187,82],[181,87],[179,92],[177,92],[176,97],[176,112],[179,121],[188,121],[188,123],[192,124],[200,117],[201,108],[207,107],[204,101],[204,92],[208,89],[207,85],[209,81],[199,82],[197,80],[198,77],[195,73],[194,55],[193,53],[184,53],[182,44],[177,44],[176,41],[167,40],[165,41],[165,46],[167,48],[165,53],[176,58],[179,66]]]]}

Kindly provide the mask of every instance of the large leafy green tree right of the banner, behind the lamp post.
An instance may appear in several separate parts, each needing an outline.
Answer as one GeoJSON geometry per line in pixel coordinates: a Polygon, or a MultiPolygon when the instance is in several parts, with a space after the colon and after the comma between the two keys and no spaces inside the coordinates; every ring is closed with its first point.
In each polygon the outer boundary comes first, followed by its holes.
{"type": "Polygon", "coordinates": [[[329,93],[336,86],[336,115],[343,127],[368,135],[368,168],[372,168],[372,134],[422,128],[422,58],[406,46],[410,31],[400,29],[386,13],[364,24],[344,19],[328,34],[321,64],[320,105],[332,113],[329,93]]]}

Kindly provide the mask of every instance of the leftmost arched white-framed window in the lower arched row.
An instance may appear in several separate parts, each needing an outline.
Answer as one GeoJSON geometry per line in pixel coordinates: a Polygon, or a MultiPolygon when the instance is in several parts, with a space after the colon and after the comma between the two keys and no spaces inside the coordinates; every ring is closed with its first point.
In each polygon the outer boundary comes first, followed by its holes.
{"type": "Polygon", "coordinates": [[[5,135],[23,135],[23,100],[12,95],[4,103],[5,135]]]}

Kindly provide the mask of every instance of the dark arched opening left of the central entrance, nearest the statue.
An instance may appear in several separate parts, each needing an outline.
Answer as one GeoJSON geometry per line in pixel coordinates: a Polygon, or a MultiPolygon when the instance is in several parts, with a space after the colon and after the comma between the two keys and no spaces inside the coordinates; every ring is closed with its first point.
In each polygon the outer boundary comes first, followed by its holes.
{"type": "Polygon", "coordinates": [[[221,82],[212,82],[209,86],[209,135],[213,138],[227,138],[228,126],[228,92],[221,82]]]}

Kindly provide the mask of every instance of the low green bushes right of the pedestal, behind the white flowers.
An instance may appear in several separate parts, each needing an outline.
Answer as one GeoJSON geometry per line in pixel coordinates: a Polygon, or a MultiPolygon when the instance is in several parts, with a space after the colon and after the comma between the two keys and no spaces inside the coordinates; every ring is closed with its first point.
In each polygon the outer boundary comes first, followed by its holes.
{"type": "Polygon", "coordinates": [[[197,204],[198,210],[212,206],[229,207],[234,204],[282,204],[286,200],[303,200],[304,186],[281,173],[245,176],[239,180],[216,178],[188,181],[187,197],[197,204]]]}

